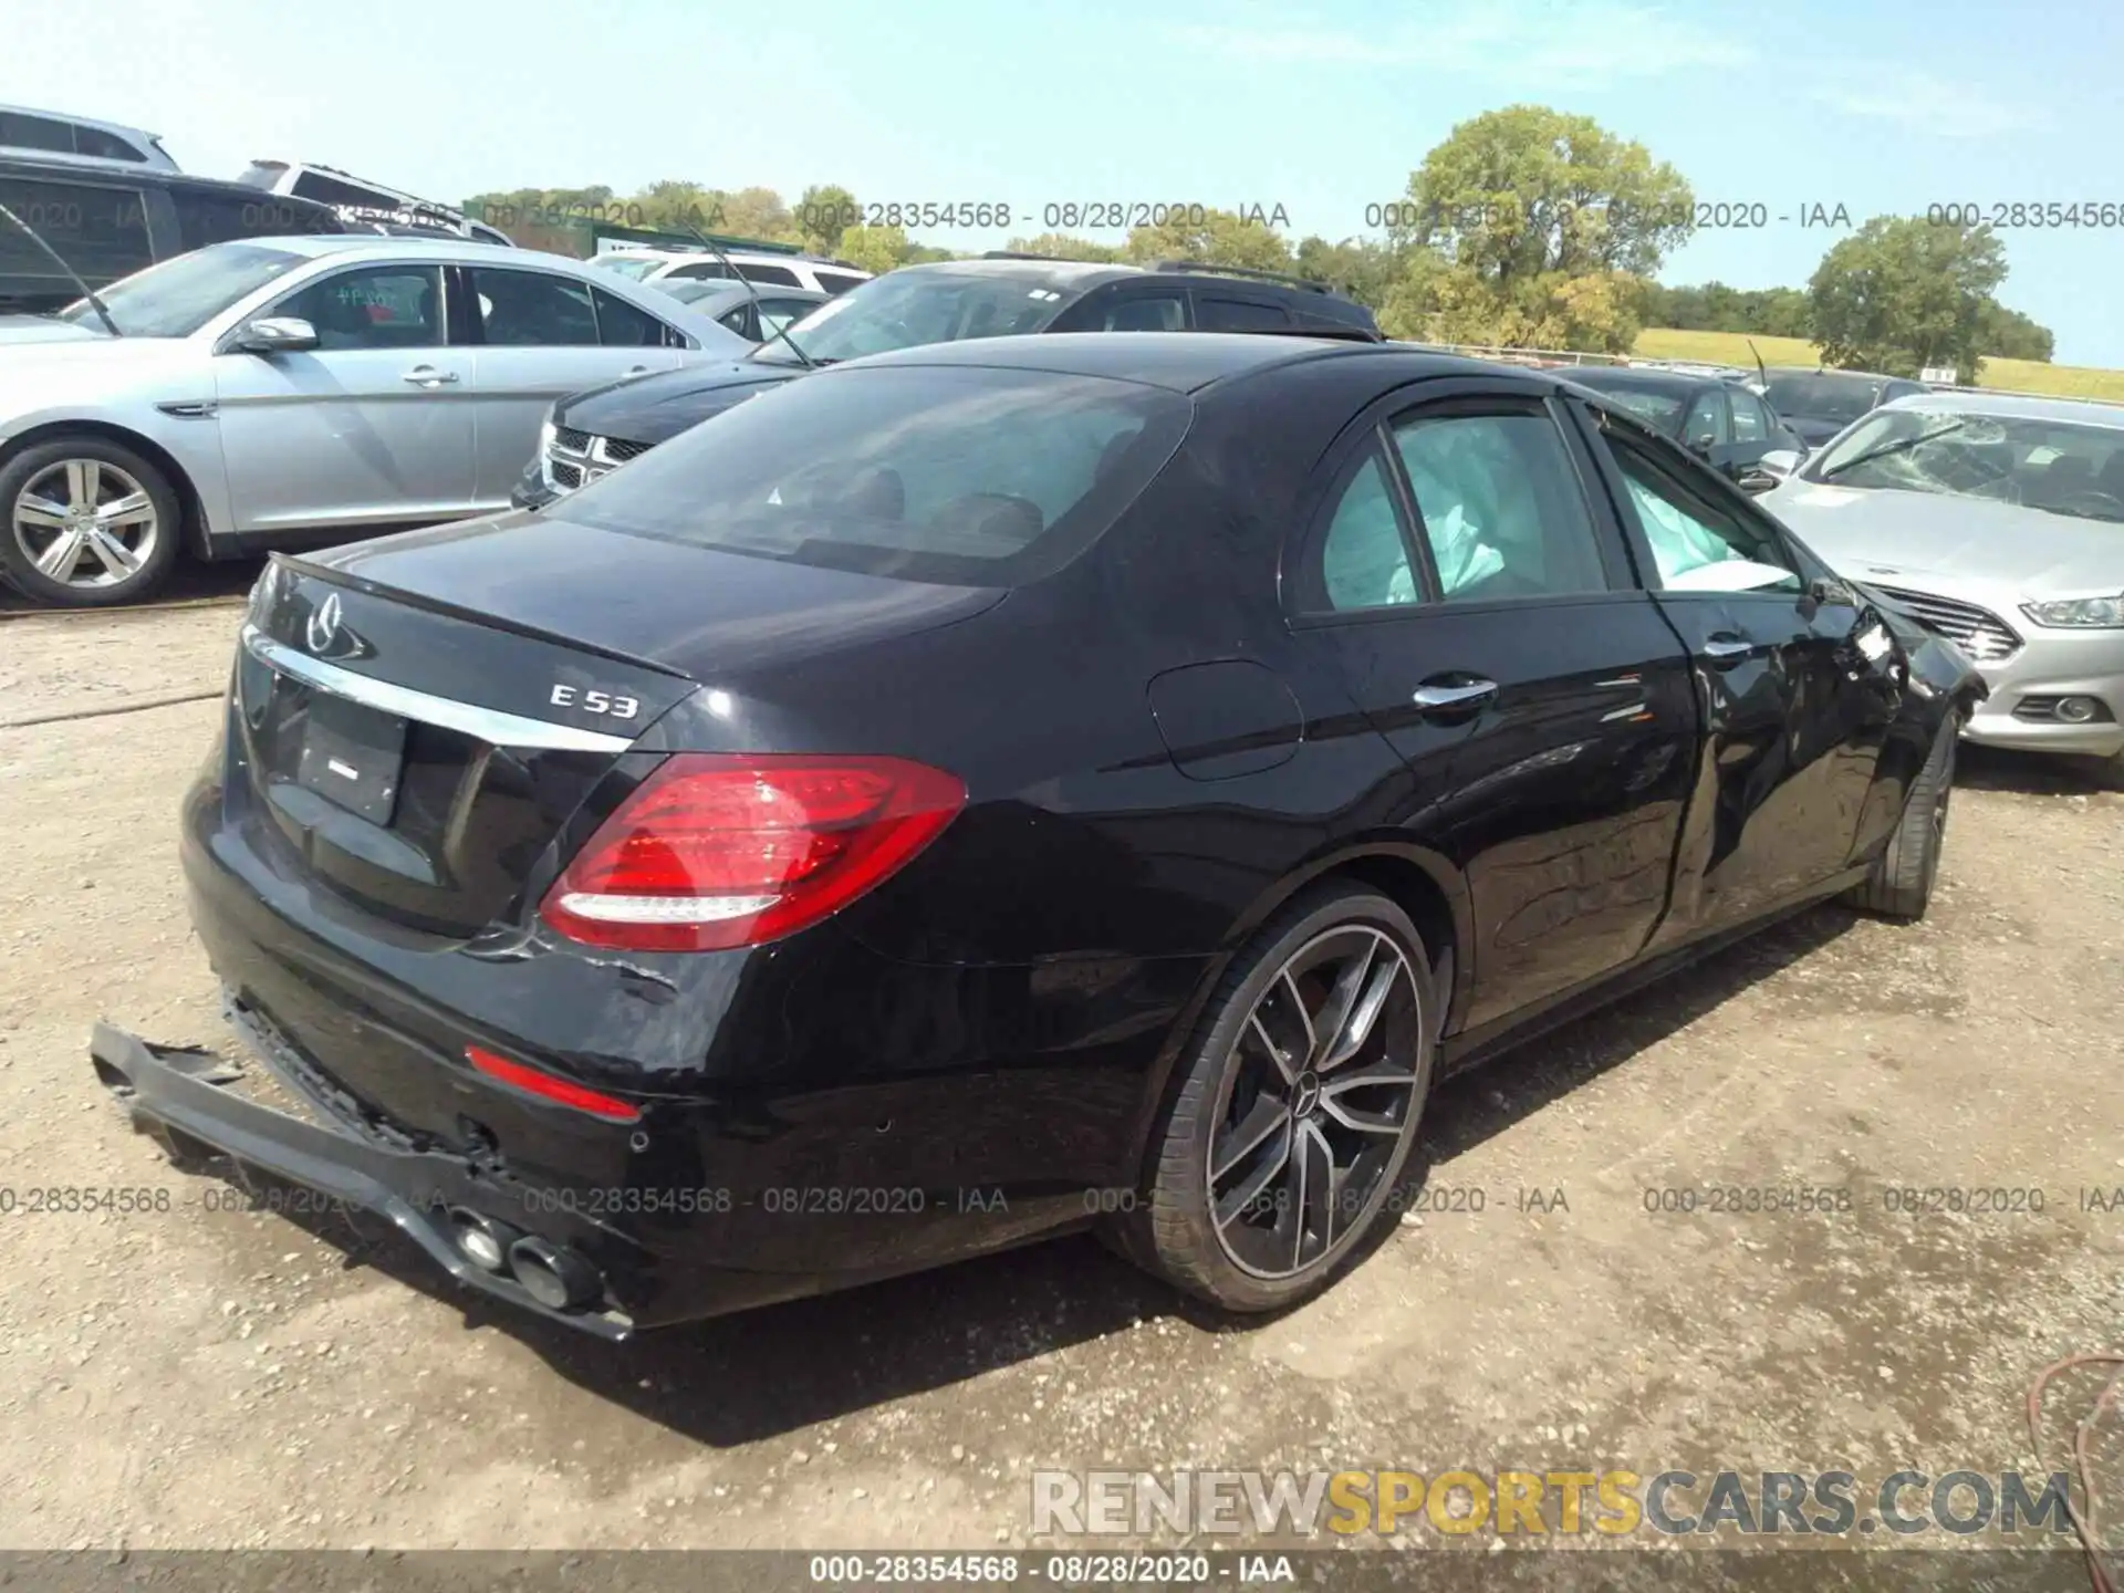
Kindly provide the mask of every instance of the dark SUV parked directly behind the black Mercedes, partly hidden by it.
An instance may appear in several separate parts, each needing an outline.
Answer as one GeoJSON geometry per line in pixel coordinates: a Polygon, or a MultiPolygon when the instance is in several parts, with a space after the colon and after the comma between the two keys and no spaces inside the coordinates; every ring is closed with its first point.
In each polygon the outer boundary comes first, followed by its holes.
{"type": "Polygon", "coordinates": [[[516,508],[550,503],[686,427],[820,365],[1028,331],[1281,331],[1383,340],[1372,312],[1355,299],[1274,272],[1003,253],[903,266],[822,304],[746,359],[637,376],[561,399],[510,501],[516,508]]]}

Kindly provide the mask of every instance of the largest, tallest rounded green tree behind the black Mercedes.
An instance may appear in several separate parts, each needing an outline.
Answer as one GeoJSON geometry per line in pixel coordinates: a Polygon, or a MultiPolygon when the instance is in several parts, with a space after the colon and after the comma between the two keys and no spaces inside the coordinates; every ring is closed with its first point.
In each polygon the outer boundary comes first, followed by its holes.
{"type": "Polygon", "coordinates": [[[1389,297],[1451,340],[1627,350],[1638,278],[1691,232],[1689,183],[1591,117],[1517,104],[1459,123],[1408,178],[1389,297]],[[1425,306],[1417,304],[1417,289],[1425,306]]]}

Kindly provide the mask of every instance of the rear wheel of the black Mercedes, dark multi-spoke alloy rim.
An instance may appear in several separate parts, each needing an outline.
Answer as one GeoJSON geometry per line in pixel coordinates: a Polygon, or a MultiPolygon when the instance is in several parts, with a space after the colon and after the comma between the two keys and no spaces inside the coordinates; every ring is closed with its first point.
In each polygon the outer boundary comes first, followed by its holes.
{"type": "Polygon", "coordinates": [[[1281,1311],[1366,1253],[1429,1096],[1417,926],[1355,881],[1311,890],[1217,986],[1181,1056],[1119,1249],[1226,1311],[1281,1311]]]}

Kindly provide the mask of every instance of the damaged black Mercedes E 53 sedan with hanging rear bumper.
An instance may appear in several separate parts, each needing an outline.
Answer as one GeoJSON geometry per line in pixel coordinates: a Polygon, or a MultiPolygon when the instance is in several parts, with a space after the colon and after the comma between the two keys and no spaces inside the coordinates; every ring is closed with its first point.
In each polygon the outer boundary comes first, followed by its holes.
{"type": "Polygon", "coordinates": [[[1924,913],[1982,684],[1540,372],[841,365],[539,514],[280,556],[183,803],[174,1151],[624,1336],[1090,1223],[1219,1306],[1436,1079],[1808,903],[1924,913]]]}

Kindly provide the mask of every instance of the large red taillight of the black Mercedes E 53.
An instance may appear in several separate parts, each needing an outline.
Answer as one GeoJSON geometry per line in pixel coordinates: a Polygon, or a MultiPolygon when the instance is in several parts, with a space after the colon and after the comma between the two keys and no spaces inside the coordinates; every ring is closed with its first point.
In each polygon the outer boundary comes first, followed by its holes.
{"type": "Polygon", "coordinates": [[[539,915],[588,945],[718,952],[847,907],[966,803],[903,758],[682,752],[620,803],[539,915]]]}

